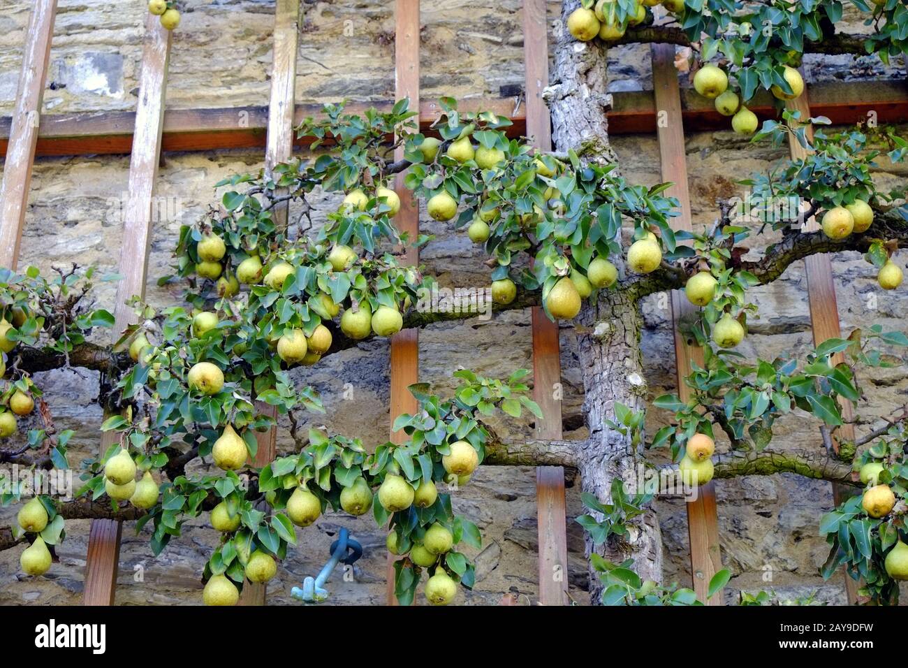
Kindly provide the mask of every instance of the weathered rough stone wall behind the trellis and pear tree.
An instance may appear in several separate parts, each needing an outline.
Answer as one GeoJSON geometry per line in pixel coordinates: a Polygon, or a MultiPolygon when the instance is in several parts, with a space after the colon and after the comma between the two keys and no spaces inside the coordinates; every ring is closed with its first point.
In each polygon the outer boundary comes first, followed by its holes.
{"type": "MultiPolygon", "coordinates": [[[[21,48],[30,3],[0,0],[0,114],[13,106],[21,48]]],[[[167,104],[176,107],[264,105],[268,98],[273,3],[268,0],[187,0],[183,23],[174,35],[167,104]]],[[[393,95],[392,3],[309,2],[304,0],[297,81],[300,102],[382,100],[393,95]]],[[[497,96],[502,86],[522,85],[523,44],[520,3],[517,0],[438,0],[422,10],[421,76],[423,95],[458,97],[497,96]]],[[[144,3],[118,4],[101,0],[60,0],[49,90],[50,113],[83,110],[132,109],[135,105],[141,58],[144,3]]],[[[555,24],[558,3],[549,4],[555,24]]],[[[610,54],[612,90],[646,89],[649,84],[648,48],[622,46],[610,54]]],[[[873,73],[893,75],[874,59],[808,58],[811,80],[850,78],[873,73]]],[[[613,138],[624,174],[632,181],[659,180],[656,139],[649,135],[613,138]]],[[[711,223],[717,197],[742,194],[733,178],[764,171],[784,152],[721,129],[687,139],[687,161],[695,224],[711,223]]],[[[71,261],[114,271],[121,245],[119,214],[126,189],[127,156],[42,158],[35,175],[27,213],[20,266],[43,270],[71,261]]],[[[150,258],[148,299],[169,304],[179,299],[179,286],[158,287],[154,278],[169,273],[170,253],[180,224],[191,223],[212,201],[212,184],[225,175],[262,166],[252,152],[212,152],[165,155],[158,195],[160,215],[155,224],[150,258]]],[[[904,184],[903,166],[883,165],[884,185],[904,184]]],[[[317,210],[337,204],[317,196],[317,210]]],[[[321,218],[321,216],[319,216],[321,218]]],[[[449,224],[423,216],[423,229],[436,238],[421,254],[429,273],[445,285],[484,285],[488,273],[480,255],[463,234],[449,224]]],[[[873,269],[857,254],[834,258],[839,310],[845,331],[864,324],[868,316],[898,328],[908,300],[904,291],[879,294],[873,269]]],[[[793,266],[776,284],[754,291],[762,318],[751,326],[742,346],[748,355],[772,357],[783,352],[804,353],[811,346],[806,285],[801,266],[793,266]]],[[[99,302],[113,304],[110,285],[99,289],[99,302]]],[[[675,385],[674,353],[669,312],[664,297],[644,304],[646,371],[652,396],[675,385]]],[[[332,354],[311,369],[294,372],[301,383],[315,385],[328,409],[325,415],[306,415],[309,424],[325,424],[343,434],[359,435],[366,443],[384,441],[388,433],[388,345],[384,341],[332,354]],[[352,389],[352,394],[345,390],[352,389]],[[345,398],[346,396],[346,398],[345,398]]],[[[562,329],[562,366],[567,397],[564,405],[568,437],[586,433],[580,412],[582,383],[577,370],[572,330],[562,329]]],[[[437,324],[420,334],[420,377],[442,392],[452,386],[451,373],[468,366],[483,374],[505,375],[530,360],[528,314],[508,313],[490,322],[437,324]]],[[[61,428],[74,429],[74,458],[94,454],[101,412],[94,404],[96,374],[59,371],[37,379],[61,428]]],[[[862,424],[903,404],[908,391],[903,369],[881,371],[864,379],[870,402],[862,424]]],[[[776,430],[776,444],[818,444],[815,425],[795,416],[776,430]]],[[[653,411],[653,433],[666,415],[653,411]]],[[[281,425],[279,447],[291,441],[281,425]]],[[[860,427],[861,429],[863,427],[860,427]]],[[[530,434],[531,425],[518,421],[498,424],[512,438],[530,434]]],[[[795,476],[751,476],[717,484],[724,561],[735,574],[729,599],[738,589],[773,588],[784,597],[818,590],[824,600],[841,602],[842,588],[823,583],[817,567],[824,561],[825,543],[817,536],[821,513],[832,504],[829,485],[795,476]],[[772,582],[764,581],[771,573],[772,582]]],[[[483,467],[456,494],[455,507],[479,524],[485,540],[476,555],[478,583],[466,603],[496,603],[501,593],[525,594],[535,600],[537,534],[535,474],[527,467],[483,467]]],[[[681,503],[659,502],[666,545],[666,579],[689,580],[685,509],[681,503]]],[[[578,494],[568,490],[568,513],[582,509],[578,494]]],[[[0,524],[12,519],[0,512],[0,524]]],[[[370,519],[330,515],[301,532],[298,549],[281,564],[269,587],[270,603],[290,603],[291,586],[316,573],[327,558],[328,545],[340,525],[350,527],[364,544],[365,557],[350,581],[332,579],[336,603],[381,603],[384,599],[384,533],[370,519]]],[[[582,536],[568,522],[571,594],[587,600],[582,536]]],[[[199,581],[215,533],[199,521],[187,525],[154,558],[147,532],[136,536],[124,527],[118,603],[197,603],[199,581]]],[[[58,551],[60,563],[44,578],[25,578],[18,572],[19,550],[0,553],[0,602],[77,603],[81,597],[87,522],[67,523],[67,538],[58,551]]]]}

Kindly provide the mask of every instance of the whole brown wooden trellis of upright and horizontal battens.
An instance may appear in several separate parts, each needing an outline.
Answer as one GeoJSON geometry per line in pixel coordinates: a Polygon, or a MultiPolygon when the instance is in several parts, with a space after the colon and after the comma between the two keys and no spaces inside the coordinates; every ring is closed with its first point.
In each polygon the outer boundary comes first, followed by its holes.
{"type": "MultiPolygon", "coordinates": [[[[79,153],[123,153],[131,148],[128,198],[124,211],[123,245],[120,273],[123,279],[117,287],[114,305],[114,333],[133,321],[133,313],[125,300],[133,294],[144,294],[147,257],[152,236],[152,206],[154,186],[161,151],[207,150],[266,145],[266,170],[291,157],[293,145],[305,140],[293,137],[292,127],[302,115],[313,110],[294,107],[294,84],[298,43],[299,0],[277,0],[274,30],[274,61],[269,107],[247,107],[251,123],[237,127],[237,109],[183,110],[171,112],[165,118],[164,98],[167,65],[171,48],[171,33],[160,25],[157,16],[148,15],[145,22],[142,73],[139,100],[134,113],[103,115],[41,116],[42,97],[46,81],[54,27],[56,0],[36,0],[26,34],[23,67],[16,96],[15,115],[5,125],[0,119],[0,150],[6,163],[0,200],[0,265],[15,267],[25,220],[32,167],[35,155],[76,155],[79,153]],[[170,125],[170,129],[168,129],[170,125]],[[8,127],[8,131],[7,128],[8,127]],[[163,137],[170,133],[169,139],[163,137]],[[265,135],[265,136],[263,136],[265,135]]],[[[419,103],[419,0],[397,0],[396,22],[396,99],[409,97],[419,108],[420,127],[426,127],[437,116],[434,102],[419,103]]],[[[545,0],[524,2],[524,45],[526,64],[526,112],[514,111],[513,100],[479,100],[464,108],[483,108],[515,121],[512,132],[533,137],[538,150],[551,150],[550,118],[541,93],[548,84],[548,31],[545,0]]],[[[692,99],[684,104],[684,94],[677,85],[674,67],[675,47],[652,47],[654,94],[626,95],[624,105],[616,105],[609,114],[610,130],[619,132],[651,131],[656,128],[659,138],[662,177],[675,186],[668,191],[681,202],[678,229],[690,229],[690,202],[687,193],[684,126],[699,129],[715,120],[715,112],[706,109],[702,101],[692,99]],[[655,110],[653,109],[655,101],[655,110]],[[657,113],[666,112],[666,124],[657,125],[657,113]]],[[[854,122],[873,109],[883,121],[908,118],[908,96],[903,86],[849,84],[830,92],[834,86],[820,87],[814,99],[814,113],[829,116],[834,122],[854,122]],[[865,86],[865,88],[861,88],[865,86]],[[860,89],[860,90],[859,90],[860,89]],[[851,93],[844,93],[849,90],[851,93]],[[854,91],[858,91],[856,94],[854,91]],[[864,92],[861,92],[864,91],[864,92]]],[[[621,99],[620,95],[616,96],[621,99]]],[[[390,103],[389,103],[390,105],[390,103]]],[[[789,103],[810,115],[806,93],[789,103]]],[[[351,109],[357,106],[351,105],[351,109]]],[[[765,102],[752,105],[758,114],[769,115],[771,106],[765,102]],[[762,106],[761,106],[762,105],[762,106]]],[[[400,152],[399,152],[400,153],[400,152]]],[[[796,142],[791,144],[793,158],[804,155],[796,142]]],[[[400,157],[400,155],[399,155],[400,157]]],[[[401,231],[415,235],[419,230],[418,205],[403,188],[402,175],[396,187],[401,194],[398,224],[401,231]]],[[[286,211],[276,212],[279,216],[286,211]]],[[[816,221],[810,221],[816,229],[816,221]]],[[[411,250],[405,261],[418,263],[418,254],[411,250]]],[[[810,313],[814,344],[840,335],[835,301],[831,261],[820,254],[805,260],[808,280],[810,313]]],[[[686,299],[672,294],[675,321],[691,309],[686,299]]],[[[561,410],[557,388],[560,383],[558,325],[551,323],[541,309],[532,314],[534,395],[542,407],[544,418],[538,421],[536,433],[542,439],[561,437],[561,410]]],[[[114,338],[117,335],[114,334],[114,338]]],[[[702,363],[702,351],[684,340],[676,331],[676,357],[679,392],[686,395],[682,379],[692,362],[702,363]]],[[[838,361],[838,360],[834,360],[838,361]]],[[[390,345],[390,417],[416,408],[407,387],[418,379],[419,339],[415,330],[393,337],[390,345]]],[[[854,437],[851,407],[843,406],[846,422],[842,435],[854,437]]],[[[264,409],[262,409],[264,410],[264,409]]],[[[391,434],[392,440],[400,434],[391,434]]],[[[101,438],[101,451],[114,443],[113,433],[101,438]]],[[[275,434],[263,434],[255,464],[263,465],[274,456],[275,434]]],[[[834,488],[836,503],[844,498],[841,487],[834,488]]],[[[721,566],[719,552],[716,499],[712,484],[700,489],[700,498],[688,503],[688,525],[691,538],[691,563],[694,586],[701,598],[706,597],[710,578],[721,566]]],[[[89,535],[86,557],[84,603],[114,603],[119,558],[121,523],[94,520],[89,535]]],[[[538,539],[539,539],[539,598],[541,603],[567,603],[567,539],[564,474],[558,467],[538,469],[538,539]]],[[[854,602],[855,585],[847,578],[849,602],[854,602]]],[[[388,603],[394,603],[393,571],[389,570],[388,603]]],[[[264,587],[247,583],[243,603],[264,603],[264,587]]],[[[513,603],[510,601],[509,603],[513,603]]],[[[714,597],[709,603],[721,603],[714,597]]]]}

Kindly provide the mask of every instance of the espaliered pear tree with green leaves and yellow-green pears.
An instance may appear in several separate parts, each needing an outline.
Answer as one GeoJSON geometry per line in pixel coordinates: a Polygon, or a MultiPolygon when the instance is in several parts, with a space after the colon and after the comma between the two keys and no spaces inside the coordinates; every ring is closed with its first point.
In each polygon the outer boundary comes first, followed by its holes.
{"type": "MultiPolygon", "coordinates": [[[[220,201],[183,227],[173,274],[160,279],[183,285],[183,303],[133,298],[136,324],[110,348],[88,338],[114,322],[92,308],[92,270],[74,268],[52,280],[31,268],[0,270],[0,436],[12,443],[0,449],[0,460],[38,476],[71,464],[71,434],[56,431],[32,380],[48,369],[103,371],[110,417],[102,428],[118,436],[107,452],[79,464],[83,484],[72,501],[5,490],[3,503],[22,506],[17,523],[0,533],[8,536],[0,547],[29,543],[23,570],[40,575],[52,567],[65,519],[134,520],[160,553],[179,538],[184,522],[206,515],[222,538],[200,573],[202,600],[224,605],[239,600],[244,582],[274,577],[288,550],[306,540],[301,530],[331,506],[371,513],[387,529],[402,603],[421,592],[428,603],[445,604],[474,585],[469,553],[481,545],[477,527],[454,512],[454,491],[482,464],[560,464],[579,472],[591,511],[578,522],[587,530],[593,601],[695,604],[693,592],[660,584],[652,494],[624,484],[652,465],[651,450],[665,449],[672,466],[700,484],[776,473],[852,484],[854,498],[817,517],[830,543],[824,576],[842,567],[863,583],[864,602],[897,602],[896,585],[908,577],[908,412],[854,443],[841,427],[844,405],[857,407],[866,398],[864,374],[902,364],[898,354],[908,337],[869,323],[803,358],[752,359],[738,346],[759,315],[750,289],[811,254],[860,251],[881,288],[898,288],[896,252],[908,239],[908,210],[903,193],[877,188],[873,165],[883,157],[901,160],[908,145],[882,128],[833,132],[823,129],[822,118],[782,112],[753,140],[781,145],[794,137],[806,157],[742,182],[760,204],[738,211],[720,203],[714,224],[679,233],[668,184],[645,187],[620,174],[604,106],[607,44],[696,42],[703,66],[693,85],[720,111],[735,114],[736,127],[752,132],[755,118],[741,116],[739,105],[761,87],[780,98],[781,111],[783,99],[803,90],[792,74],[800,54],[856,51],[885,59],[902,53],[900,3],[853,5],[873,33],[836,32],[838,2],[679,0],[666,4],[678,28],[651,25],[648,2],[568,1],[568,30],[559,36],[547,92],[558,149],[550,154],[509,137],[508,119],[462,113],[452,99],[442,100],[429,135],[419,132],[406,100],[386,113],[360,115],[326,105],[299,128],[314,138],[311,155],[271,174],[236,174],[217,184],[220,201]],[[773,30],[744,29],[766,22],[773,30]],[[816,125],[812,138],[807,125],[816,125]],[[400,147],[403,159],[392,160],[400,147]],[[407,436],[401,444],[367,447],[356,434],[301,428],[302,411],[326,410],[305,384],[306,367],[370,337],[473,314],[417,308],[434,279],[400,262],[402,247],[428,241],[401,234],[395,224],[400,195],[390,184],[401,173],[432,218],[488,254],[496,310],[538,304],[552,319],[577,325],[587,439],[508,444],[498,438],[487,423],[491,415],[541,417],[522,370],[505,379],[458,372],[449,396],[411,386],[417,410],[393,425],[407,436]],[[314,215],[316,190],[336,195],[328,214],[314,215]],[[778,202],[797,204],[780,210],[778,202]],[[275,211],[287,203],[299,215],[281,224],[275,211]],[[811,218],[820,230],[805,231],[811,218]],[[706,360],[685,379],[688,402],[676,395],[650,400],[646,390],[639,304],[669,290],[684,290],[700,307],[682,324],[706,360]],[[260,403],[287,416],[293,447],[258,468],[249,464],[255,434],[275,423],[256,409],[260,403]],[[40,423],[27,417],[35,404],[40,423]],[[644,433],[649,404],[671,415],[652,435],[644,433]],[[814,421],[815,445],[774,443],[775,422],[787,414],[814,421]],[[25,419],[37,425],[16,436],[25,419]]],[[[720,573],[712,589],[728,576],[720,573]]],[[[745,603],[766,600],[753,596],[745,603]]]]}

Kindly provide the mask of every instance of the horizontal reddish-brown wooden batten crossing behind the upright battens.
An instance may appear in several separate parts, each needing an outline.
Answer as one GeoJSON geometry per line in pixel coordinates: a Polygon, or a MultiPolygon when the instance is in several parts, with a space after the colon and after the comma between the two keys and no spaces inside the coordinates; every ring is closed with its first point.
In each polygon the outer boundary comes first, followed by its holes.
{"type": "MultiPolygon", "coordinates": [[[[682,115],[686,132],[725,130],[731,121],[719,115],[713,103],[690,89],[682,94],[682,115]]],[[[757,95],[750,108],[761,119],[774,118],[775,99],[757,95]]],[[[350,112],[369,106],[390,111],[391,102],[356,103],[350,112]]],[[[508,116],[514,123],[510,135],[524,135],[526,107],[513,97],[464,100],[462,110],[483,109],[508,116]]],[[[902,81],[835,82],[811,87],[811,111],[828,117],[834,124],[855,123],[875,114],[877,123],[908,122],[908,88],[902,81]]],[[[297,105],[294,124],[307,116],[318,115],[321,105],[297,105]]],[[[419,126],[429,128],[440,112],[437,100],[419,105],[419,126]]],[[[656,103],[652,91],[616,93],[608,113],[612,135],[652,134],[656,131],[656,103]]],[[[11,118],[0,117],[0,155],[6,155],[11,118]]],[[[115,155],[128,154],[133,145],[133,112],[85,112],[43,115],[38,131],[36,155],[115,155]]],[[[212,151],[228,148],[262,148],[268,125],[267,106],[219,109],[171,109],[164,114],[164,151],[212,151]]],[[[311,143],[309,138],[296,145],[311,143]]]]}

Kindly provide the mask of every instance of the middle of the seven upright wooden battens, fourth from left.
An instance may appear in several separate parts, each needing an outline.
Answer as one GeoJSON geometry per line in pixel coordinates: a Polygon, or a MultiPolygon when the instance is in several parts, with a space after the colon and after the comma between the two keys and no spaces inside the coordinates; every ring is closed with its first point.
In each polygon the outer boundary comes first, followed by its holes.
{"type": "MultiPolygon", "coordinates": [[[[394,99],[410,99],[410,109],[419,109],[419,0],[396,0],[394,3],[394,99]]],[[[394,155],[403,158],[403,147],[394,155]]],[[[400,211],[394,222],[401,233],[410,234],[415,241],[419,234],[419,204],[404,184],[405,173],[397,174],[394,190],[400,196],[400,211]]],[[[400,257],[403,266],[419,264],[419,252],[415,247],[406,249],[400,257]]],[[[391,337],[390,344],[390,424],[393,427],[397,416],[416,412],[416,399],[407,389],[419,379],[419,330],[408,329],[391,337]]],[[[390,431],[393,443],[402,443],[407,434],[390,431]]],[[[378,502],[376,502],[378,503],[378,502]]],[[[388,586],[385,601],[396,605],[394,595],[394,561],[388,554],[388,586]]]]}

